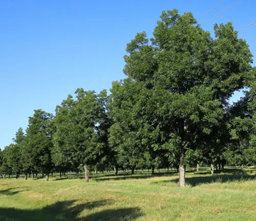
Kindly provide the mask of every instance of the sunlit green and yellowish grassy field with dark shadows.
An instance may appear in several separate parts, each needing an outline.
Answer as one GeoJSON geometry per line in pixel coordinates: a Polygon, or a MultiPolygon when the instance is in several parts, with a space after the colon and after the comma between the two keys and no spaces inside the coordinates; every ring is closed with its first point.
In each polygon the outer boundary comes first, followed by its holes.
{"type": "Polygon", "coordinates": [[[256,168],[0,180],[0,220],[256,220],[256,168]]]}

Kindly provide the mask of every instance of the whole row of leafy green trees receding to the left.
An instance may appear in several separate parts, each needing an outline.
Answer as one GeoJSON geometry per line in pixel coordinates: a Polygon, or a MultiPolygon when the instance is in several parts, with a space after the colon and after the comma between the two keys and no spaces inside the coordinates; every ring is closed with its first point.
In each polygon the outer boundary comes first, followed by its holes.
{"type": "Polygon", "coordinates": [[[232,24],[204,31],[191,13],[164,11],[153,38],[127,44],[127,78],[105,90],[78,89],[56,107],[38,109],[26,134],[0,151],[6,174],[256,165],[255,68],[232,24]],[[229,103],[233,93],[245,96],[229,103]]]}

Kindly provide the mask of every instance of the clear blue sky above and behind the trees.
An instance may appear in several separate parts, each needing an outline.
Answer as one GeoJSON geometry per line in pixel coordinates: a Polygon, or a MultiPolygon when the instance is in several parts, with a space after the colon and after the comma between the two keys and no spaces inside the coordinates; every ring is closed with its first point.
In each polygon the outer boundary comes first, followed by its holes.
{"type": "MultiPolygon", "coordinates": [[[[197,18],[220,2],[0,1],[0,148],[12,142],[19,127],[27,127],[34,109],[54,113],[77,87],[98,92],[124,78],[126,43],[137,32],[151,35],[163,10],[191,11],[197,18]]],[[[236,2],[226,0],[199,23],[212,32],[215,23],[231,20],[240,30],[256,20],[253,0],[215,17],[236,2]]],[[[255,34],[256,28],[240,34],[254,55],[255,34]]]]}

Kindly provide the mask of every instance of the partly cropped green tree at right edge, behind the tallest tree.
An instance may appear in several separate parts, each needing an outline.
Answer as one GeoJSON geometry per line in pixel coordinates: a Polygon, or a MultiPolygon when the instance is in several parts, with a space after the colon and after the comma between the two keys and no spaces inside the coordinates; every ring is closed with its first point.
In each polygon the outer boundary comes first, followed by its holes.
{"type": "Polygon", "coordinates": [[[245,96],[229,108],[231,141],[224,156],[230,166],[255,165],[255,98],[252,75],[251,89],[244,91],[245,96]]]}

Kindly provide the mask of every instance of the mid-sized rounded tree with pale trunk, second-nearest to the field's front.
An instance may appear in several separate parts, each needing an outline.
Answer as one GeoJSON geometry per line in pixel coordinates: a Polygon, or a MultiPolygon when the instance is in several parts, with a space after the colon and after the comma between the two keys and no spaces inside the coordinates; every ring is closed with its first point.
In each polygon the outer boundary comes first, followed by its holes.
{"type": "Polygon", "coordinates": [[[76,100],[69,96],[57,107],[54,154],[59,154],[58,159],[66,159],[75,169],[82,165],[85,182],[89,182],[89,170],[104,155],[105,135],[101,127],[105,123],[102,99],[106,91],[97,95],[94,91],[77,89],[75,94],[76,100]]]}

